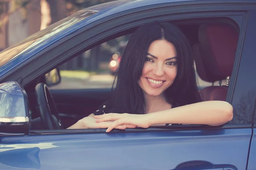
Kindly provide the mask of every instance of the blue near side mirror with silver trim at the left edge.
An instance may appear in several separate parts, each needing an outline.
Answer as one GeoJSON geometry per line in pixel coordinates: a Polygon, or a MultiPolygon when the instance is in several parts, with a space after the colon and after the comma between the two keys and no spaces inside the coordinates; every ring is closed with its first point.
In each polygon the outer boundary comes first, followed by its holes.
{"type": "Polygon", "coordinates": [[[0,135],[29,134],[26,92],[17,82],[0,84],[0,135]]]}

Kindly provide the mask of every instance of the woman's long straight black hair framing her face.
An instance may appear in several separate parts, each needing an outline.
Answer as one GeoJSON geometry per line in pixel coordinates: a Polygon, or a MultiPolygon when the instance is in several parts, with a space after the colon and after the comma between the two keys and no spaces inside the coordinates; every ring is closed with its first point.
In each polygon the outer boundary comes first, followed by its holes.
{"type": "Polygon", "coordinates": [[[166,101],[186,105],[201,101],[195,77],[191,46],[179,28],[170,23],[154,21],[140,26],[131,36],[119,64],[108,101],[112,113],[145,114],[145,99],[138,81],[142,75],[149,45],[167,40],[177,51],[177,76],[166,89],[166,101]]]}

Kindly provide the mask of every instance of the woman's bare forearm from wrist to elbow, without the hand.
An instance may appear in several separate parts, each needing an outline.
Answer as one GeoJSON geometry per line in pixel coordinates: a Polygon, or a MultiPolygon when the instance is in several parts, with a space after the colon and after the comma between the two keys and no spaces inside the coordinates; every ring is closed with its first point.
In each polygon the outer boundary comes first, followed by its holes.
{"type": "Polygon", "coordinates": [[[233,107],[224,101],[207,101],[148,113],[149,125],[161,123],[222,125],[233,118],[233,107]]]}

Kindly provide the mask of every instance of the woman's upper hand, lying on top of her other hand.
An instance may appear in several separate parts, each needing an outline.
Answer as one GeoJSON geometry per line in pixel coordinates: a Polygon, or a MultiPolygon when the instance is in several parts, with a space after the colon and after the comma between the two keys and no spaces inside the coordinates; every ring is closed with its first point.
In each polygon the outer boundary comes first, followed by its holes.
{"type": "MultiPolygon", "coordinates": [[[[94,116],[96,118],[97,123],[114,121],[108,127],[106,132],[110,132],[113,128],[118,128],[119,126],[133,125],[135,127],[143,127],[147,128],[150,126],[148,121],[148,116],[146,114],[128,114],[128,113],[108,113],[103,115],[94,116]]],[[[134,127],[133,127],[134,128],[134,127]]]]}

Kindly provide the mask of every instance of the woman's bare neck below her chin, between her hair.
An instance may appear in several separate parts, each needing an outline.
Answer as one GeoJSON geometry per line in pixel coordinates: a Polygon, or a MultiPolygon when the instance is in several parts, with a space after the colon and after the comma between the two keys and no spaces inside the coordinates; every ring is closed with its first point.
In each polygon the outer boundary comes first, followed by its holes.
{"type": "Polygon", "coordinates": [[[164,94],[160,94],[158,96],[150,96],[144,93],[144,97],[146,113],[153,113],[172,108],[172,105],[166,101],[164,94]]]}

